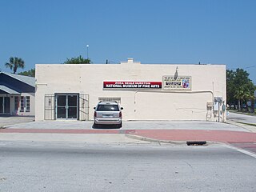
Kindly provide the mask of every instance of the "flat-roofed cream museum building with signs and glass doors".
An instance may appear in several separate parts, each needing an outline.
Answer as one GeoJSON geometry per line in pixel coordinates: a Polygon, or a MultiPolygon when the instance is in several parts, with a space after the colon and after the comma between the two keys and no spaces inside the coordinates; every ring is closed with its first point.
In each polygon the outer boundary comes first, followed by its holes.
{"type": "Polygon", "coordinates": [[[92,120],[99,101],[114,100],[124,120],[226,120],[226,66],[37,64],[38,120],[92,120]]]}

